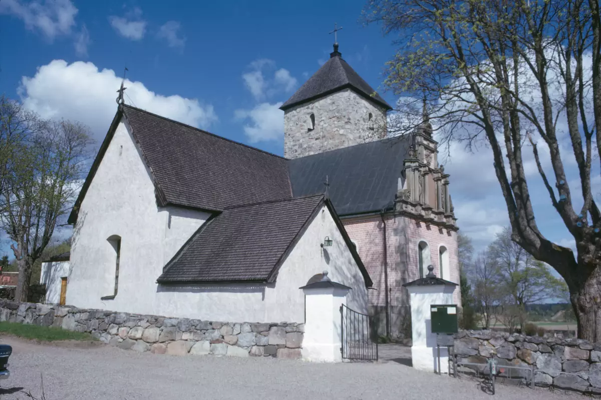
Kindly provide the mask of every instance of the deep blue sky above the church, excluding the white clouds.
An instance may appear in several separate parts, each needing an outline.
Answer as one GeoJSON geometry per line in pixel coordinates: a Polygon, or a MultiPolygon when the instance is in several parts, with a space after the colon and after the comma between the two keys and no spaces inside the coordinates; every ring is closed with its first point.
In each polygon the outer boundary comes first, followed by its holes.
{"type": "MultiPolygon", "coordinates": [[[[2,0],[6,1],[17,3],[2,0]]],[[[56,3],[67,7],[69,2],[56,3]]],[[[38,67],[55,59],[69,64],[92,62],[118,76],[127,65],[129,79],[144,83],[157,94],[197,98],[203,105],[212,105],[218,120],[206,128],[249,142],[243,132],[244,121],[236,118],[236,110],[252,109],[260,102],[287,100],[293,89],[319,68],[319,61],[328,58],[334,41],[328,32],[334,28],[334,22],[343,26],[339,32],[343,56],[374,87],[379,85],[383,64],[393,48],[388,40],[383,40],[379,28],[361,25],[363,4],[308,1],[299,7],[281,1],[172,1],[165,7],[165,2],[156,1],[73,1],[77,9],[73,25],[66,32],[58,29],[55,34],[28,24],[18,11],[8,10],[5,5],[5,15],[0,16],[4,38],[0,89],[17,96],[23,76],[34,76],[38,67]],[[138,28],[143,24],[143,33],[135,33],[135,25],[129,31],[120,31],[116,26],[123,27],[124,23],[118,24],[123,20],[130,24],[139,22],[138,28]],[[162,26],[169,22],[169,26],[178,26],[171,41],[160,34],[162,26]],[[84,26],[89,37],[87,51],[78,52],[75,43],[84,26]],[[7,32],[12,32],[10,40],[7,32]],[[259,102],[242,77],[257,60],[271,61],[264,65],[266,75],[281,68],[289,71],[296,85],[288,91],[277,90],[260,97],[259,102]]],[[[0,5],[0,13],[1,10],[0,5]]],[[[394,98],[388,100],[394,102],[394,98]]],[[[280,138],[259,147],[282,154],[282,143],[280,138]]]]}

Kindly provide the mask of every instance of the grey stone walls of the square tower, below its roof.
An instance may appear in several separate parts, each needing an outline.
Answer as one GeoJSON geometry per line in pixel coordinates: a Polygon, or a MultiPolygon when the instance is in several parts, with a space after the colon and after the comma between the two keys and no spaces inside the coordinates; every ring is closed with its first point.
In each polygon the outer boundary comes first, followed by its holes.
{"type": "Polygon", "coordinates": [[[284,157],[310,154],[382,139],[385,110],[351,89],[302,103],[284,114],[284,157]],[[309,116],[315,127],[309,129],[309,116]],[[371,121],[369,115],[371,114],[371,121]]]}

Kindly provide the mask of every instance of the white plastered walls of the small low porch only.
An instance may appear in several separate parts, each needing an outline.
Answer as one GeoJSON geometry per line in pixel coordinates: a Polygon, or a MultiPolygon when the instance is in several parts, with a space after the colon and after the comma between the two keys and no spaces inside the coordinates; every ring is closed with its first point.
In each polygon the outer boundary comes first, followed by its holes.
{"type": "Polygon", "coordinates": [[[367,311],[363,276],[325,206],[288,253],[275,283],[159,285],[156,314],[209,321],[304,323],[305,296],[299,288],[324,270],[332,280],[352,288],[349,307],[367,311]],[[332,246],[325,247],[329,261],[320,247],[326,236],[332,239],[332,246]]]}

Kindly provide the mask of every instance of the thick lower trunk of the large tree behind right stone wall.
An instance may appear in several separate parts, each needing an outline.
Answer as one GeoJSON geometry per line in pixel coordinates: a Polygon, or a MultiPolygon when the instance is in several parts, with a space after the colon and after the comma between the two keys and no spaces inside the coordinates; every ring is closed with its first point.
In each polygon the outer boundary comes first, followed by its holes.
{"type": "Polygon", "coordinates": [[[601,341],[601,261],[593,262],[594,265],[578,265],[575,277],[575,290],[570,288],[570,300],[576,321],[578,322],[578,338],[590,342],[601,341]],[[585,275],[581,271],[591,271],[585,275]]]}

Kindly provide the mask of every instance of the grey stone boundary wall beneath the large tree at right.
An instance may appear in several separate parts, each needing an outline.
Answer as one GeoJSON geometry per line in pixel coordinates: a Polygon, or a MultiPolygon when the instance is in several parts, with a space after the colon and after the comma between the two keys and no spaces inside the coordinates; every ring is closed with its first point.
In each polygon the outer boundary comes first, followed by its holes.
{"type": "MultiPolygon", "coordinates": [[[[534,367],[537,386],[601,393],[601,343],[469,330],[455,335],[453,354],[458,362],[486,364],[495,348],[501,368],[512,365],[534,367]]],[[[517,376],[529,378],[529,372],[518,372],[517,376]]]]}

